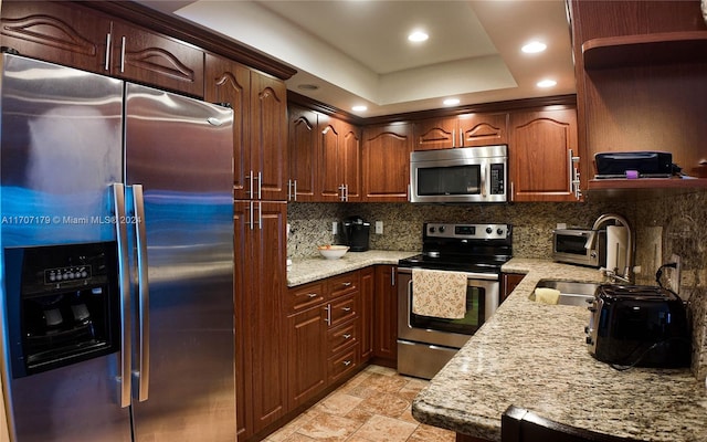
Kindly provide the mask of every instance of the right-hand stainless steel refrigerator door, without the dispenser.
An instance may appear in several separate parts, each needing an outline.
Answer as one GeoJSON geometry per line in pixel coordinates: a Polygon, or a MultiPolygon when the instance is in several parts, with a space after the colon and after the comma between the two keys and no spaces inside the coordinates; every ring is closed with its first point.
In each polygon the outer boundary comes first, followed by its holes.
{"type": "Polygon", "coordinates": [[[149,367],[147,399],[133,402],[138,442],[235,440],[232,119],[127,85],[126,185],[143,187],[149,283],[148,348],[137,336],[133,358],[134,386],[149,367]]]}

